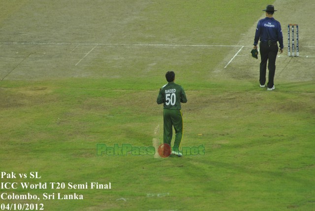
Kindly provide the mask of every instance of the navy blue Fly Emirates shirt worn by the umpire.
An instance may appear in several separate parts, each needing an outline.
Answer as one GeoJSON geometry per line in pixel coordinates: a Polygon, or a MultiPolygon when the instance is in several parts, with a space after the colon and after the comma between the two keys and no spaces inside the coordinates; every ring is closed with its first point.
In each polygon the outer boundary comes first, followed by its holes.
{"type": "Polygon", "coordinates": [[[259,20],[255,33],[254,45],[257,45],[259,39],[260,42],[267,42],[268,40],[271,40],[272,42],[279,41],[279,47],[283,49],[284,38],[280,22],[269,17],[259,20]]]}

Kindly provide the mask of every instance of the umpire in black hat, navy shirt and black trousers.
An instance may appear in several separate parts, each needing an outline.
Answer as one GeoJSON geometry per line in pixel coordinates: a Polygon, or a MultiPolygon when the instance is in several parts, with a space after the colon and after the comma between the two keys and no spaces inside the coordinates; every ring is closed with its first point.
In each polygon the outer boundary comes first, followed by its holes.
{"type": "Polygon", "coordinates": [[[276,58],[278,54],[278,44],[280,50],[279,52],[283,52],[284,41],[281,30],[281,25],[279,21],[273,18],[273,14],[275,8],[273,5],[267,5],[266,9],[262,10],[266,11],[266,18],[258,21],[255,38],[254,38],[254,49],[257,49],[257,43],[260,39],[259,43],[259,51],[260,51],[260,73],[259,73],[259,82],[260,87],[264,88],[266,85],[266,69],[267,69],[267,61],[268,61],[268,83],[267,90],[272,91],[275,89],[274,85],[274,77],[276,71],[276,58]]]}

